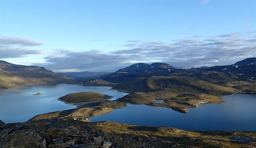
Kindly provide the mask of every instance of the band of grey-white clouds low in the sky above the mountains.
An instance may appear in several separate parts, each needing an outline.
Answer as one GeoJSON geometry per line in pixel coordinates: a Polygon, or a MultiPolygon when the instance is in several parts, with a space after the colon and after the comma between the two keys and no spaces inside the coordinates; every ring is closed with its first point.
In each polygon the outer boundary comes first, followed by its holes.
{"type": "MultiPolygon", "coordinates": [[[[23,46],[44,44],[32,40],[21,41],[5,41],[1,45],[1,58],[2,54],[6,57],[40,54],[38,50],[29,50],[23,46]],[[17,44],[18,47],[14,46],[17,44]]],[[[43,66],[55,72],[114,72],[131,64],[154,62],[167,63],[176,68],[231,65],[249,57],[256,57],[255,42],[255,32],[234,32],[208,37],[192,36],[170,40],[169,43],[128,40],[127,44],[122,45],[127,49],[112,52],[55,49],[44,57],[45,63],[32,65],[43,66]]]]}

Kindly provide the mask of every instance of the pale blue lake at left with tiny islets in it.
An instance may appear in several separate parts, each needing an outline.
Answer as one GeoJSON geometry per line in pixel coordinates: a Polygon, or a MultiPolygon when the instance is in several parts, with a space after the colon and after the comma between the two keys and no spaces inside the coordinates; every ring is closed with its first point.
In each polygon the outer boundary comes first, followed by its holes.
{"type": "Polygon", "coordinates": [[[25,122],[35,115],[76,108],[57,100],[59,97],[78,92],[99,92],[122,98],[128,93],[109,91],[112,87],[82,86],[70,84],[40,84],[0,90],[0,120],[5,123],[25,122]],[[14,93],[14,92],[18,92],[14,93]],[[42,95],[35,96],[33,94],[42,95]]]}

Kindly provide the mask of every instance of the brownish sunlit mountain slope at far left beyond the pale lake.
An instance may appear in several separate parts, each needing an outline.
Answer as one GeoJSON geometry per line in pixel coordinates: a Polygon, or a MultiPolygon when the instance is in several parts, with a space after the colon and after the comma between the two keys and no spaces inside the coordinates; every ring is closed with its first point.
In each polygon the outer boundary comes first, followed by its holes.
{"type": "Polygon", "coordinates": [[[38,66],[25,66],[0,61],[0,89],[41,83],[73,83],[72,78],[58,75],[38,66]]]}

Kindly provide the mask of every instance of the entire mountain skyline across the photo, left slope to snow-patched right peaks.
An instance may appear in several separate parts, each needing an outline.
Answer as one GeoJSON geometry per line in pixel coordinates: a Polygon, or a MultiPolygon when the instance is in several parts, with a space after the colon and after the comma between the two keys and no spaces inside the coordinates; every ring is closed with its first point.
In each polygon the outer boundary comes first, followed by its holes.
{"type": "MultiPolygon", "coordinates": [[[[227,85],[230,81],[255,81],[256,57],[239,61],[233,65],[201,67],[194,69],[177,69],[166,63],[137,63],[113,73],[110,72],[57,72],[47,70],[44,67],[24,66],[8,63],[0,60],[0,88],[18,87],[39,83],[78,83],[83,85],[115,85],[113,88],[125,91],[152,91],[168,86],[164,83],[153,82],[162,77],[190,77],[218,85],[227,85]],[[90,80],[102,79],[101,81],[90,80]],[[158,83],[159,86],[149,86],[149,82],[158,83]],[[96,84],[98,83],[98,84],[96,84]],[[99,84],[100,83],[100,84],[99,84]],[[118,85],[117,85],[118,84],[118,85]],[[124,88],[125,86],[125,88],[124,88]],[[143,86],[143,87],[142,87],[143,86]],[[161,86],[161,87],[160,87],[161,86]],[[138,88],[137,88],[138,87],[138,88]]],[[[156,85],[156,84],[154,84],[156,85]]]]}

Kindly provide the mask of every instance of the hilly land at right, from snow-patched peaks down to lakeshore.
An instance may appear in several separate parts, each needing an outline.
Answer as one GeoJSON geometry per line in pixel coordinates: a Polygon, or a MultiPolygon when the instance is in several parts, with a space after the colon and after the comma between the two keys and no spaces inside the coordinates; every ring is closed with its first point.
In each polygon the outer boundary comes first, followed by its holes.
{"type": "Polygon", "coordinates": [[[134,64],[102,79],[118,83],[113,86],[115,90],[134,92],[118,102],[167,107],[182,113],[202,104],[223,103],[222,95],[256,93],[256,58],[195,69],[176,69],[163,63],[152,65],[134,64]]]}

